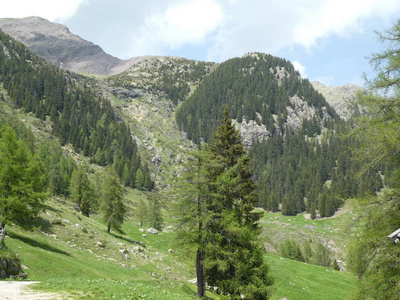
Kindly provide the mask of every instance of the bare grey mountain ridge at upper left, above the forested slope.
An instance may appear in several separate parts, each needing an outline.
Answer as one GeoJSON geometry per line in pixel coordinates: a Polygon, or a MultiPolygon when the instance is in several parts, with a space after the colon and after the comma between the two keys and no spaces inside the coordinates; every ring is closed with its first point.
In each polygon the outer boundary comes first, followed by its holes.
{"type": "Polygon", "coordinates": [[[112,75],[132,64],[105,53],[99,46],[72,34],[66,26],[43,18],[0,19],[0,29],[46,61],[69,71],[112,75]]]}

